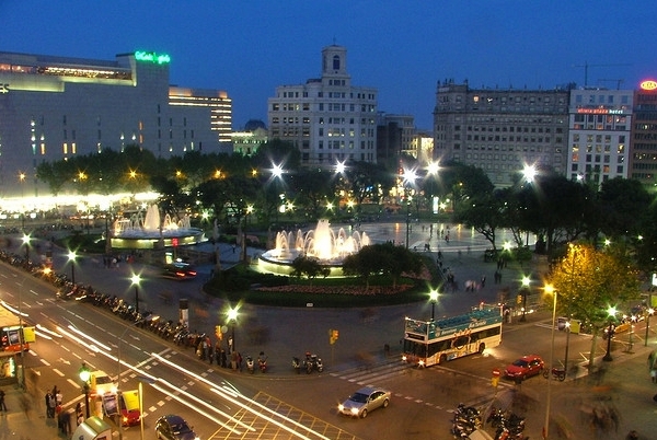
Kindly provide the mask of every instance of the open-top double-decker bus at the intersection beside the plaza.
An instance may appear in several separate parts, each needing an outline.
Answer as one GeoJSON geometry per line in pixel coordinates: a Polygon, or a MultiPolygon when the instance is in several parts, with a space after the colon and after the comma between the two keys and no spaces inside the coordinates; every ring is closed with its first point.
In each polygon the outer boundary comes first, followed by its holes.
{"type": "Polygon", "coordinates": [[[469,313],[435,321],[404,320],[402,360],[418,367],[481,354],[502,343],[504,316],[499,305],[482,303],[469,313]]]}

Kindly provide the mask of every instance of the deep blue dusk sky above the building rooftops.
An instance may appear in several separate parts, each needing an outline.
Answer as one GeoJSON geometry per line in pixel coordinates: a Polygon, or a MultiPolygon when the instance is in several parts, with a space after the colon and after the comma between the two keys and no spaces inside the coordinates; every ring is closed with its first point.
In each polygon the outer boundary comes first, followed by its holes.
{"type": "Polygon", "coordinates": [[[437,81],[636,89],[657,77],[654,0],[166,1],[0,0],[0,51],[114,60],[171,56],[171,83],[226,90],[233,129],[267,119],[277,85],[319,78],[321,50],[347,48],[351,83],[379,111],[431,129],[437,81]]]}

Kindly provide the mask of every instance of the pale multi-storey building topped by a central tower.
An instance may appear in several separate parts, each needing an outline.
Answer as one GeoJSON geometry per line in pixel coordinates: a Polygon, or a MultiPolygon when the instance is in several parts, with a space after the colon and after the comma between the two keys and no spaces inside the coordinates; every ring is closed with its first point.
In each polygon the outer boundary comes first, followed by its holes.
{"type": "Polygon", "coordinates": [[[377,90],[351,85],[347,49],[322,50],[322,77],[280,85],[267,102],[269,139],[290,141],[304,165],[377,161],[377,90]]]}

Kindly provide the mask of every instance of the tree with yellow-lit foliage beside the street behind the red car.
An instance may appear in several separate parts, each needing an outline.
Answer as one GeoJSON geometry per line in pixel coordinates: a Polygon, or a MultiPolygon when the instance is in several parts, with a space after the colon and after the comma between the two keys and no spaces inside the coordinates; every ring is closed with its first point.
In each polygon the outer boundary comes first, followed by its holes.
{"type": "MultiPolygon", "coordinates": [[[[614,245],[598,251],[588,244],[570,244],[549,282],[557,296],[556,311],[591,325],[591,360],[596,338],[609,324],[609,308],[639,297],[638,273],[624,250],[614,245]]],[[[549,302],[552,306],[553,299],[549,302]]]]}

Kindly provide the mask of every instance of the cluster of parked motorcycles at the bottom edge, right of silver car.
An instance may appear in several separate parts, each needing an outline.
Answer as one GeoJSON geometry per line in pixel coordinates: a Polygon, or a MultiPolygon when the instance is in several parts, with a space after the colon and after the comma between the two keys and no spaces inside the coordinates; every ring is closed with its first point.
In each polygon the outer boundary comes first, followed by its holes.
{"type": "MultiPolygon", "coordinates": [[[[493,407],[486,424],[495,429],[495,440],[528,440],[525,436],[525,417],[515,413],[493,407]]],[[[454,412],[451,433],[454,439],[469,439],[470,436],[483,428],[481,412],[473,406],[459,404],[454,412]]]]}

